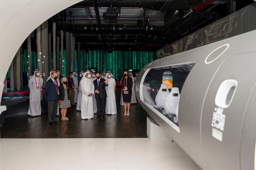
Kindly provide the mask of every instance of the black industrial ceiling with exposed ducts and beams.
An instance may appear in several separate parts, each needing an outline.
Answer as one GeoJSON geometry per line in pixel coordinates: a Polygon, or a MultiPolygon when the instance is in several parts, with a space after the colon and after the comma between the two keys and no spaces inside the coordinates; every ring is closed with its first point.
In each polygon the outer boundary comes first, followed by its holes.
{"type": "Polygon", "coordinates": [[[61,29],[64,30],[64,36],[66,31],[71,32],[75,35],[76,42],[80,41],[84,48],[102,49],[112,45],[119,50],[155,51],[166,43],[176,41],[227,16],[234,8],[241,9],[253,1],[237,1],[234,4],[233,0],[210,0],[210,4],[205,5],[204,9],[193,11],[184,17],[195,5],[207,2],[112,0],[112,7],[117,8],[120,17],[110,21],[102,16],[107,7],[111,6],[110,0],[84,0],[50,18],[48,28],[51,33],[52,22],[56,22],[57,36],[61,29]],[[97,21],[95,4],[98,6],[101,26],[97,21]]]}

